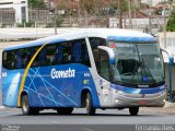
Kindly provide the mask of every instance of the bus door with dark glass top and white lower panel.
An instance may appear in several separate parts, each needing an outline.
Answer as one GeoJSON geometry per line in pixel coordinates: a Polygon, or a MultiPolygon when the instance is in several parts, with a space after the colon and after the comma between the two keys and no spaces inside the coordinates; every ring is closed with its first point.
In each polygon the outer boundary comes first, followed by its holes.
{"type": "Polygon", "coordinates": [[[96,80],[97,92],[101,100],[101,106],[105,107],[110,105],[112,102],[112,91],[110,91],[110,73],[108,63],[108,53],[105,50],[97,49],[97,55],[95,55],[96,70],[98,78],[96,80]]]}

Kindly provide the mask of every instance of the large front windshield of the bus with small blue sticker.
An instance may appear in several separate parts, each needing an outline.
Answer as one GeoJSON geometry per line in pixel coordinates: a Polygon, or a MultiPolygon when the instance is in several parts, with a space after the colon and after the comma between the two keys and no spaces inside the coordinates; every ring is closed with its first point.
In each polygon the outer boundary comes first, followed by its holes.
{"type": "Polygon", "coordinates": [[[163,58],[158,44],[110,43],[115,51],[114,82],[138,87],[164,83],[163,58]]]}

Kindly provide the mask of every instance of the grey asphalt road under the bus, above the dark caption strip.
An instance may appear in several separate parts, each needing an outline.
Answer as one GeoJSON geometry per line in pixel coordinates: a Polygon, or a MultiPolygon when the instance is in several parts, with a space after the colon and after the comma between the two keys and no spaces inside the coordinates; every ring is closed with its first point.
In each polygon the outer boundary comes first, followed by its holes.
{"type": "Polygon", "coordinates": [[[85,109],[74,109],[72,115],[57,115],[54,110],[38,116],[23,116],[21,109],[1,109],[0,124],[175,124],[175,115],[140,112],[130,116],[128,110],[97,110],[96,116],[86,116],[85,109]]]}

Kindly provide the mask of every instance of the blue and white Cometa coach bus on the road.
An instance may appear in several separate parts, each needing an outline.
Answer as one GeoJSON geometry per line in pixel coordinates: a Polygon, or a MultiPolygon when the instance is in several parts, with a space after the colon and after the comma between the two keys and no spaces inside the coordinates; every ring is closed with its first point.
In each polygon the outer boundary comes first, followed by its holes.
{"type": "Polygon", "coordinates": [[[80,28],[2,52],[2,103],[24,115],[128,108],[137,116],[164,106],[165,92],[156,38],[138,31],[80,28]]]}

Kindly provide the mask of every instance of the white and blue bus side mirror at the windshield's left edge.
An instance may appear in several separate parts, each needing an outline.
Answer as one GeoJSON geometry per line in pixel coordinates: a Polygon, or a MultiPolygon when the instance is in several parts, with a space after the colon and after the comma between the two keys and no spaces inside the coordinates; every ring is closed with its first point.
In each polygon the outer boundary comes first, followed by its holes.
{"type": "Polygon", "coordinates": [[[97,46],[98,49],[105,50],[108,53],[109,57],[109,64],[116,64],[116,60],[115,60],[115,52],[112,48],[106,47],[106,46],[97,46]]]}

